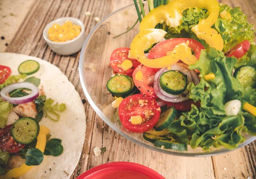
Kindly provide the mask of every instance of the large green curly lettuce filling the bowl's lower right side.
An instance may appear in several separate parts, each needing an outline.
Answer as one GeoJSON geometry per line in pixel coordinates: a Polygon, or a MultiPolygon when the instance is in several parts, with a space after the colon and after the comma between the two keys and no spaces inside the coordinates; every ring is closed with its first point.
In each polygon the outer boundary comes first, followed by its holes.
{"type": "Polygon", "coordinates": [[[200,83],[188,86],[189,98],[200,101],[201,107],[192,105],[192,110],[183,113],[169,126],[169,130],[176,135],[182,133],[192,148],[199,146],[208,150],[224,146],[234,149],[245,140],[244,132],[256,135],[256,119],[251,114],[241,110],[237,116],[226,116],[224,105],[230,100],[239,99],[242,105],[245,102],[256,105],[256,90],[251,87],[244,89],[232,77],[235,63],[236,58],[225,57],[223,52],[209,48],[201,51],[198,62],[189,66],[201,72],[200,83]],[[215,74],[210,82],[204,80],[204,75],[209,73],[215,74]]]}

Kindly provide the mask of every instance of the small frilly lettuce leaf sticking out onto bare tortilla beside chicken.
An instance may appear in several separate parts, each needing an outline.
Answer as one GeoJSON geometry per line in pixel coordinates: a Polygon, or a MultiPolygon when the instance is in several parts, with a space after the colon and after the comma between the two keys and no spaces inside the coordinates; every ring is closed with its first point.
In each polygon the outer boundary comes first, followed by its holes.
{"type": "Polygon", "coordinates": [[[66,104],[61,103],[59,105],[58,102],[55,105],[52,105],[53,102],[54,100],[51,98],[46,99],[44,103],[44,112],[47,116],[49,116],[50,119],[58,121],[61,118],[61,116],[56,111],[63,112],[67,109],[67,107],[66,104]]]}

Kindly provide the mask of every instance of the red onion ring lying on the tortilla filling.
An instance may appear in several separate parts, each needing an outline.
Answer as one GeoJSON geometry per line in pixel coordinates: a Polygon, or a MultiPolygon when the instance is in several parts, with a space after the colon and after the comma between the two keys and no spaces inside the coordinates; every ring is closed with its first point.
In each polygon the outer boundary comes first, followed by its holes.
{"type": "Polygon", "coordinates": [[[30,82],[17,82],[4,87],[0,91],[1,97],[5,101],[9,101],[11,104],[20,105],[35,100],[39,96],[38,88],[30,82]],[[24,97],[8,97],[8,94],[18,88],[29,88],[31,93],[24,97]]]}

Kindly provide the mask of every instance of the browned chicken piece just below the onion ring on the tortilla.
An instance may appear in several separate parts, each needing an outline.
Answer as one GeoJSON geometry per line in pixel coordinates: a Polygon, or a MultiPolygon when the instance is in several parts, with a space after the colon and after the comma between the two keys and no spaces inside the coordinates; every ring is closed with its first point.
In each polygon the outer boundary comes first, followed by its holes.
{"type": "Polygon", "coordinates": [[[19,116],[22,116],[22,117],[35,118],[37,115],[36,106],[33,101],[25,103],[25,104],[17,105],[16,107],[14,107],[12,109],[12,111],[14,111],[16,114],[18,114],[19,116]]]}

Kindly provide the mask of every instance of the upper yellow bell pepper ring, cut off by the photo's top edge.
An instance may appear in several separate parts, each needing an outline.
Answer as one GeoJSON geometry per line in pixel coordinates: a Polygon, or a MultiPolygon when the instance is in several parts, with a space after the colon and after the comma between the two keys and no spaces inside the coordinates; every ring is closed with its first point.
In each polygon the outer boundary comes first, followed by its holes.
{"type": "Polygon", "coordinates": [[[155,28],[158,23],[164,22],[170,27],[179,26],[182,12],[189,7],[206,8],[209,11],[207,19],[201,20],[198,25],[192,28],[192,31],[198,38],[205,40],[209,46],[221,51],[224,46],[221,35],[211,28],[219,15],[217,0],[172,0],[169,4],[150,11],[140,23],[140,32],[148,28],[155,28]]]}

